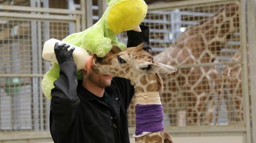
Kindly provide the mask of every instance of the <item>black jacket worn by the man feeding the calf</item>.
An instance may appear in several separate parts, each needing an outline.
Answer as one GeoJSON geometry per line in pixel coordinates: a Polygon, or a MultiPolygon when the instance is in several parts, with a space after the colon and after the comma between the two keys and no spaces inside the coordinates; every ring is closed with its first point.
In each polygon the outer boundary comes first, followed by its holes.
{"type": "MultiPolygon", "coordinates": [[[[127,47],[149,42],[149,28],[127,31],[127,47]]],[[[134,95],[130,80],[114,77],[101,100],[76,80],[76,65],[60,65],[51,95],[50,131],[55,143],[129,143],[127,109],[134,95]],[[108,102],[106,102],[108,101],[108,102]]]]}

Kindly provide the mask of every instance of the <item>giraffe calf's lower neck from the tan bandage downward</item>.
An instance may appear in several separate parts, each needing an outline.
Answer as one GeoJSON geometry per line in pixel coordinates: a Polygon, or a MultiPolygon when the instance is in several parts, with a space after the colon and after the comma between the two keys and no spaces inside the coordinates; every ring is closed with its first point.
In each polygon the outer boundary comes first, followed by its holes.
{"type": "Polygon", "coordinates": [[[135,94],[136,143],[174,143],[164,132],[164,112],[159,92],[135,94]]]}

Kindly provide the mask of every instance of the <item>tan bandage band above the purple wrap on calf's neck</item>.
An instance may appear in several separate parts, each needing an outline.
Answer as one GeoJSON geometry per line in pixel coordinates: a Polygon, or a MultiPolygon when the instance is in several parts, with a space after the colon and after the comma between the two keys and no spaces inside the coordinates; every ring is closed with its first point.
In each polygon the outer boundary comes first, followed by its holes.
{"type": "Polygon", "coordinates": [[[135,94],[135,106],[148,105],[148,104],[159,104],[162,105],[159,92],[141,92],[135,94]]]}

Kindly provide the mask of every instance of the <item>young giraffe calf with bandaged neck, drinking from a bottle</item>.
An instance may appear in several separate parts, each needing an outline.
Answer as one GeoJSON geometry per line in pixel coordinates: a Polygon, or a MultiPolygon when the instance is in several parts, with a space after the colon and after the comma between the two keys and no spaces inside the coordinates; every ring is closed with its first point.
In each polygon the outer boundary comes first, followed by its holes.
{"type": "Polygon", "coordinates": [[[159,92],[163,90],[160,75],[177,71],[170,65],[155,62],[145,51],[144,45],[127,48],[110,56],[94,58],[92,69],[103,75],[113,75],[130,79],[135,89],[136,143],[173,143],[171,136],[164,132],[163,106],[159,92]]]}

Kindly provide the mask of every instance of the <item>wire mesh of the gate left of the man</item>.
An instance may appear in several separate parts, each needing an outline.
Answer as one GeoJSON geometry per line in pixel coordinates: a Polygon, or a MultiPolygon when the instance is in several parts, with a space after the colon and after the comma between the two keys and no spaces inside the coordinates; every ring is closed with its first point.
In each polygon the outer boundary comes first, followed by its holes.
{"type": "Polygon", "coordinates": [[[0,23],[0,130],[49,130],[49,100],[41,91],[51,66],[42,59],[45,40],[62,40],[74,22],[15,20],[0,23]]]}

